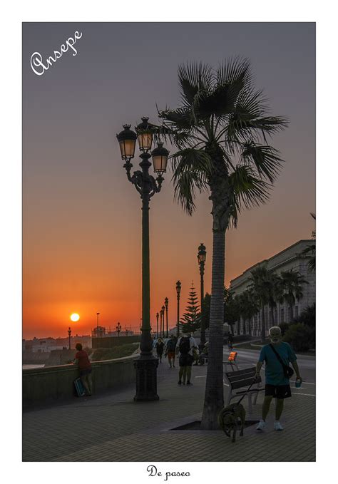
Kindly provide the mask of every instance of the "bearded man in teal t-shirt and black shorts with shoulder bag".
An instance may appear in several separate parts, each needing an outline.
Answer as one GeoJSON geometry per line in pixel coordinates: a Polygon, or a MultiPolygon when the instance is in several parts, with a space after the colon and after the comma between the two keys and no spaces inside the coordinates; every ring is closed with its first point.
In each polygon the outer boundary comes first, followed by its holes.
{"type": "MultiPolygon", "coordinates": [[[[269,335],[271,344],[280,356],[280,359],[282,359],[282,362],[286,366],[289,366],[291,363],[295,369],[297,379],[302,381],[296,361],[297,356],[290,344],[282,341],[280,326],[272,326],[269,330],[269,335]]],[[[272,398],[276,398],[275,431],[283,430],[280,425],[280,416],[282,415],[284,407],[284,399],[291,396],[290,380],[285,377],[283,366],[277,358],[275,351],[273,351],[270,344],[263,346],[256,365],[256,376],[258,377],[260,376],[262,364],[265,362],[265,398],[262,406],[262,420],[256,428],[257,431],[263,431],[265,429],[265,418],[267,417],[267,413],[269,413],[272,398]]]]}

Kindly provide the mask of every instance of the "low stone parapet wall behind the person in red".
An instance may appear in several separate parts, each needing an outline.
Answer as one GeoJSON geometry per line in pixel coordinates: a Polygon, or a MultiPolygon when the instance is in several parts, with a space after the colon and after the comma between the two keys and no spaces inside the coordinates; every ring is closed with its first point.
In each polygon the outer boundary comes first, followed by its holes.
{"type": "MultiPolygon", "coordinates": [[[[115,360],[93,361],[93,393],[116,390],[133,383],[134,361],[137,358],[126,356],[115,360]]],[[[71,364],[23,370],[24,410],[77,398],[73,382],[78,376],[78,369],[71,364]]]]}

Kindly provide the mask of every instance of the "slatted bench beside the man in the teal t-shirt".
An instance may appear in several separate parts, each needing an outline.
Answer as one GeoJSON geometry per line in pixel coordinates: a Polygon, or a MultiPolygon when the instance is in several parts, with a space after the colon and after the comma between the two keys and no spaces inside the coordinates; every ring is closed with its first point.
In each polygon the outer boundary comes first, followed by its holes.
{"type": "Polygon", "coordinates": [[[247,388],[253,383],[252,387],[247,393],[247,399],[249,401],[249,413],[252,413],[252,395],[255,396],[254,404],[257,402],[258,392],[262,391],[264,388],[260,388],[260,383],[262,379],[255,380],[256,369],[255,366],[252,368],[246,368],[244,370],[238,371],[225,371],[224,376],[225,380],[227,381],[226,384],[229,386],[229,394],[227,396],[227,406],[230,405],[230,402],[233,398],[240,398],[243,393],[246,393],[247,388]],[[234,391],[239,388],[245,388],[240,391],[234,391]]]}

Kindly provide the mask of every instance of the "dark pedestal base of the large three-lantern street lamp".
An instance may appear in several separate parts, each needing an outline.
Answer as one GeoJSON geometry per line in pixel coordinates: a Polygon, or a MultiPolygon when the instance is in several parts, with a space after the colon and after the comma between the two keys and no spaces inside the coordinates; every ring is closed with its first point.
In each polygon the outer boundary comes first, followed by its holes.
{"type": "Polygon", "coordinates": [[[136,394],[134,401],[159,400],[157,388],[158,359],[153,355],[140,356],[134,361],[136,370],[136,394]]]}

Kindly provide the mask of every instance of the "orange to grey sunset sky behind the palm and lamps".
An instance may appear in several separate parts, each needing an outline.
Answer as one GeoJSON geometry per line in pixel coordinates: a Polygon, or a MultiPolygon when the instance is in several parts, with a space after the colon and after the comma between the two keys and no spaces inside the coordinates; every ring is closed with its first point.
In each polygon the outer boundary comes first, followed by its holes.
{"type": "MultiPolygon", "coordinates": [[[[141,203],[128,182],[116,133],[179,102],[177,68],[187,61],[217,66],[228,56],[252,62],[274,115],[290,127],[272,141],[286,163],[270,202],[243,212],[227,233],[225,282],[314,230],[315,26],[290,24],[24,24],[23,29],[23,332],[89,334],[117,321],[138,329],[141,317],[141,203]],[[76,42],[43,76],[43,58],[76,42]],[[71,322],[76,312],[81,319],[71,322]]],[[[168,147],[170,149],[170,147],[168,147]]],[[[138,158],[133,160],[135,169],[138,158]]],[[[207,248],[210,292],[211,215],[208,194],[188,217],[173,201],[170,173],[150,202],[150,319],[175,282],[185,309],[191,282],[199,292],[198,245],[207,248]]]]}

